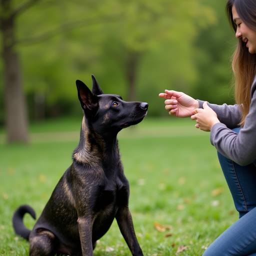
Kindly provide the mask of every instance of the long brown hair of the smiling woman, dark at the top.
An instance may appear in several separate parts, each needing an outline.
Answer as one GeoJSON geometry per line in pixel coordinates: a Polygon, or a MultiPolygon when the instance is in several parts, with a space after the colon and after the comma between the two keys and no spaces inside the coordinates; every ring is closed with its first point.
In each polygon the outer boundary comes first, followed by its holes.
{"type": "MultiPolygon", "coordinates": [[[[233,21],[232,6],[241,20],[252,30],[256,31],[256,1],[255,0],[228,0],[226,3],[226,14],[230,26],[236,32],[237,25],[233,21]]],[[[250,88],[256,74],[256,54],[251,54],[242,41],[238,44],[233,54],[232,69],[234,73],[234,96],[242,112],[242,119],[239,125],[243,125],[245,117],[249,112],[250,88]]]]}

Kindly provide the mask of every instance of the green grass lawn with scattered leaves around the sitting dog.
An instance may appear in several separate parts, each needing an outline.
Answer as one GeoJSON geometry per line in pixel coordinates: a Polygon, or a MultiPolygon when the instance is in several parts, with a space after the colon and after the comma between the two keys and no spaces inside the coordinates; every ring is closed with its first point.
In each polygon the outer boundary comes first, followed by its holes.
{"type": "MultiPolygon", "coordinates": [[[[13,211],[26,203],[39,216],[78,142],[78,137],[68,139],[68,133],[56,138],[56,132],[78,132],[80,122],[34,123],[34,141],[44,142],[0,144],[0,255],[27,255],[28,242],[12,229],[13,211]],[[40,140],[44,131],[48,137],[40,140]]],[[[190,119],[145,118],[118,135],[130,182],[129,207],[144,255],[175,255],[181,245],[188,247],[178,255],[201,255],[238,218],[209,133],[194,124],[190,119]],[[219,193],[212,195],[217,188],[219,193]],[[160,232],[154,222],[171,228],[160,232]]],[[[33,227],[31,217],[25,215],[24,221],[33,227]]],[[[94,255],[131,255],[115,221],[94,255]],[[114,250],[108,252],[108,247],[114,250]]]]}

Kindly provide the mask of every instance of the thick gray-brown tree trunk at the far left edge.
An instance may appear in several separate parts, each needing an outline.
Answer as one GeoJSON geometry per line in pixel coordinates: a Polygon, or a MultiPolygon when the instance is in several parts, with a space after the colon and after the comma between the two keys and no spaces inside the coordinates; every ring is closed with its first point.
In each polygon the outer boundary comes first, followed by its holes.
{"type": "Polygon", "coordinates": [[[5,125],[7,141],[28,142],[27,109],[22,90],[22,78],[18,53],[15,52],[15,16],[11,12],[11,0],[1,0],[0,29],[2,33],[2,57],[4,62],[5,125]]]}

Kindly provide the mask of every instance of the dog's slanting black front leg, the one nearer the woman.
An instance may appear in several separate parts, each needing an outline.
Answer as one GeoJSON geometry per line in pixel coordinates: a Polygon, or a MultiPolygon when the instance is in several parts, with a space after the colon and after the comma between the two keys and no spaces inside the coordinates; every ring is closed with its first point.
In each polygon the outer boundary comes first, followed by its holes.
{"type": "Polygon", "coordinates": [[[135,235],[133,222],[128,206],[119,208],[115,215],[115,218],[123,235],[123,238],[129,246],[132,255],[143,255],[142,250],[138,244],[137,237],[135,235]]]}

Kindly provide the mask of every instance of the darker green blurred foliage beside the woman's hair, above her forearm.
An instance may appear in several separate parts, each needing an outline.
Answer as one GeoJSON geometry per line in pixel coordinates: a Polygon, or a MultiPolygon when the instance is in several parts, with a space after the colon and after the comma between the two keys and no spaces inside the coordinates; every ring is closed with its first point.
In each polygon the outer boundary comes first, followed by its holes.
{"type": "Polygon", "coordinates": [[[230,57],[236,38],[225,15],[223,0],[205,0],[216,13],[216,22],[210,29],[200,31],[194,42],[194,60],[198,79],[193,82],[191,96],[212,103],[234,103],[230,91],[232,75],[230,57]]]}

